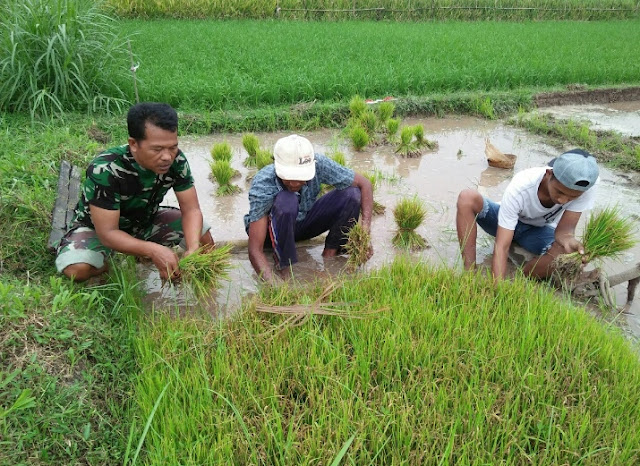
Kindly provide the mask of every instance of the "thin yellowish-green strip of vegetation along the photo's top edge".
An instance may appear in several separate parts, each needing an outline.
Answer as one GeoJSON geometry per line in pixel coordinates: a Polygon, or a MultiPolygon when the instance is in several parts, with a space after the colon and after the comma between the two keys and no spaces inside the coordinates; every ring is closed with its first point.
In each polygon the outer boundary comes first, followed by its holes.
{"type": "Polygon", "coordinates": [[[108,0],[120,15],[169,18],[593,20],[638,17],[634,0],[108,0]]]}

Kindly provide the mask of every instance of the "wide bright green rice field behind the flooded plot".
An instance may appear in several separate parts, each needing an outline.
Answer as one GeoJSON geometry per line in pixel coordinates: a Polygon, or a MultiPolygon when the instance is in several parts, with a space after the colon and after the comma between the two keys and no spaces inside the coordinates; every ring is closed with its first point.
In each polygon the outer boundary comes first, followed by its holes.
{"type": "MultiPolygon", "coordinates": [[[[140,98],[182,108],[244,112],[354,94],[637,84],[640,76],[638,21],[127,20],[121,27],[136,34],[140,98]],[[194,47],[196,38],[206,46],[194,47]]],[[[133,98],[132,84],[123,85],[133,98]]]]}

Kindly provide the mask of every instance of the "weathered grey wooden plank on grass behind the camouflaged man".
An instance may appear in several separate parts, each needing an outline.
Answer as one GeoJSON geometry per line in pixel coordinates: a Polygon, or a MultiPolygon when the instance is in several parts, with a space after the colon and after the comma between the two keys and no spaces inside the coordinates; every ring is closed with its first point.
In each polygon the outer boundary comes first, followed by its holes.
{"type": "Polygon", "coordinates": [[[51,233],[47,247],[55,251],[73,218],[80,195],[80,171],[66,160],[60,164],[56,202],[51,218],[51,233]]]}

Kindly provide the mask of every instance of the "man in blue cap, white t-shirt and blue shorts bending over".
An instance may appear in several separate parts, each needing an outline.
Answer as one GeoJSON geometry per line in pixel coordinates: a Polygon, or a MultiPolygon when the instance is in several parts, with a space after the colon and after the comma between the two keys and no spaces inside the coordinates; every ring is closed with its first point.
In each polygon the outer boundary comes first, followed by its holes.
{"type": "Polygon", "coordinates": [[[491,271],[502,279],[512,242],[540,256],[527,262],[524,273],[546,278],[560,254],[578,251],[575,238],[580,215],[593,208],[598,180],[596,159],[582,149],[573,149],[553,159],[547,167],[517,173],[498,204],[478,191],[467,189],[458,196],[456,229],[466,269],[476,263],[476,236],[480,227],[496,242],[491,271]]]}

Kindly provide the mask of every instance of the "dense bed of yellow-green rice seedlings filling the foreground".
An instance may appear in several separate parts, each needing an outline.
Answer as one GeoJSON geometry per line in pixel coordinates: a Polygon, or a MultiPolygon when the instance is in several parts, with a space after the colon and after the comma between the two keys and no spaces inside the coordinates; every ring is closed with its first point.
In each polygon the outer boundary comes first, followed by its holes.
{"type": "Polygon", "coordinates": [[[255,312],[312,311],[323,290],[267,288],[226,321],[150,316],[132,398],[145,461],[640,461],[637,353],[547,289],[398,259],[326,298],[362,319],[255,312]]]}

